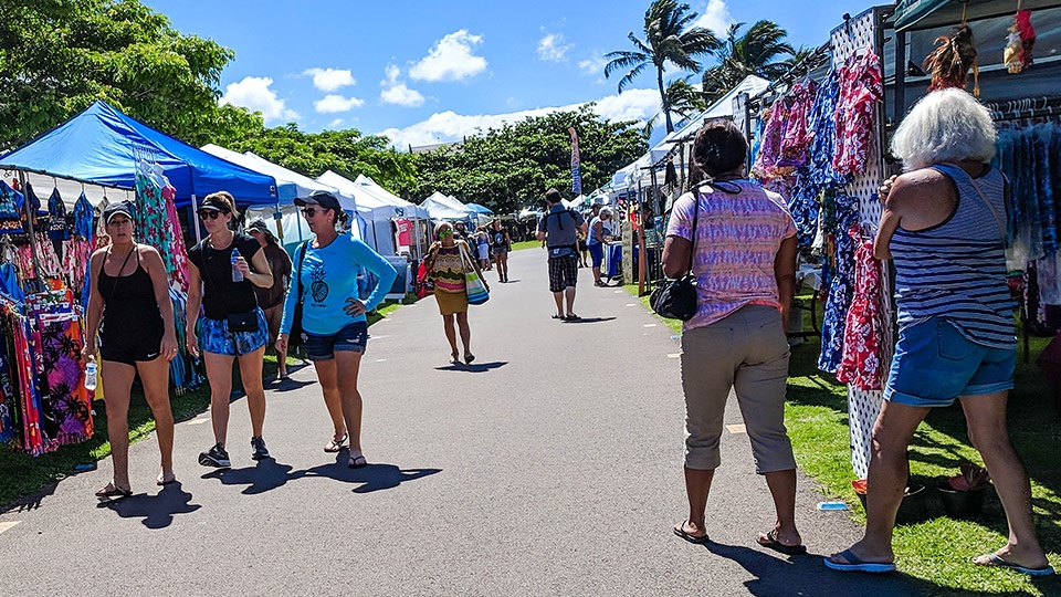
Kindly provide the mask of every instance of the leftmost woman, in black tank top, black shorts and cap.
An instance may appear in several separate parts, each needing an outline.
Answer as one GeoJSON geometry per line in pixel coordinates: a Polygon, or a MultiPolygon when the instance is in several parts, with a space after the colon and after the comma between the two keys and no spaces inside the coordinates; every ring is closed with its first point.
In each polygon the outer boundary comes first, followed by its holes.
{"type": "Polygon", "coordinates": [[[129,391],[139,374],[144,395],[155,416],[161,465],[156,483],[174,475],[174,416],[169,407],[169,362],[177,356],[174,304],[169,300],[166,266],[158,251],[133,240],[133,208],[107,206],[103,212],[111,245],[90,261],[85,360],[96,355],[101,333],[99,375],[106,380],[107,436],[114,459],[114,478],[96,492],[101,500],[127,498],[129,484],[129,391]],[[135,258],[135,259],[134,259],[135,258]]]}

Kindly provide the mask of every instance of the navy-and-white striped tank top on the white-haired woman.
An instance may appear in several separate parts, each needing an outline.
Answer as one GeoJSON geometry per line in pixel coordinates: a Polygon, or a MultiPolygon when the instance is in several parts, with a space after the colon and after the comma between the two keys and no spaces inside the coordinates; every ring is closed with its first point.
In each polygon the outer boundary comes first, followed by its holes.
{"type": "Polygon", "coordinates": [[[970,342],[1016,347],[1002,247],[1006,177],[997,168],[976,179],[953,164],[934,168],[954,181],[958,205],[938,226],[916,232],[900,227],[892,237],[899,324],[939,316],[970,342]]]}

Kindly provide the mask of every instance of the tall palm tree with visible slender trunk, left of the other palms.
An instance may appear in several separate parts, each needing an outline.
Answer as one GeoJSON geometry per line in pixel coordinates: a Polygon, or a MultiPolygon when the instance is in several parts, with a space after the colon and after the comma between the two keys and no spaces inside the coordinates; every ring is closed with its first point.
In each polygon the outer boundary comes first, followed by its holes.
{"type": "Polygon", "coordinates": [[[668,133],[674,130],[674,123],[671,122],[671,98],[663,85],[664,66],[671,63],[680,70],[698,73],[701,64],[695,56],[712,54],[721,45],[718,38],[707,29],[685,29],[695,20],[696,13],[689,11],[689,4],[679,4],[677,0],[655,0],[644,11],[644,41],[631,31],[627,36],[635,50],[605,54],[610,61],[605,65],[606,78],[616,71],[627,71],[619,80],[619,93],[650,64],[655,66],[655,83],[660,90],[668,133]]]}

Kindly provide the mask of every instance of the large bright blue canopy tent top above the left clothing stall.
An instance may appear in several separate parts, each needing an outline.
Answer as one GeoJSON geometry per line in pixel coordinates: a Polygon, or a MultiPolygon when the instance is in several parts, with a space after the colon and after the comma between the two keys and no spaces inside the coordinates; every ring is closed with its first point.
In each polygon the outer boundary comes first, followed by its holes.
{"type": "Polygon", "coordinates": [[[132,188],[136,164],[157,164],[177,189],[178,208],[192,197],[227,190],[246,205],[275,205],[276,181],[159,133],[105,102],[0,158],[0,168],[74,177],[132,188]]]}

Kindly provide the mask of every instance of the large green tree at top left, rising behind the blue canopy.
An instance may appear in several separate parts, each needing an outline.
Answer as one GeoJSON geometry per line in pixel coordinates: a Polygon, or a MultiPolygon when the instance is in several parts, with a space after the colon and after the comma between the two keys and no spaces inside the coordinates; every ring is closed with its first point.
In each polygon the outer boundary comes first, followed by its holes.
{"type": "Polygon", "coordinates": [[[0,2],[0,147],[21,145],[104,100],[193,145],[261,127],[218,106],[234,53],[185,35],[137,0],[0,2]]]}

